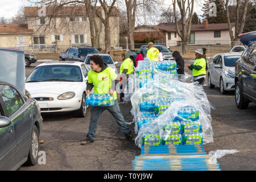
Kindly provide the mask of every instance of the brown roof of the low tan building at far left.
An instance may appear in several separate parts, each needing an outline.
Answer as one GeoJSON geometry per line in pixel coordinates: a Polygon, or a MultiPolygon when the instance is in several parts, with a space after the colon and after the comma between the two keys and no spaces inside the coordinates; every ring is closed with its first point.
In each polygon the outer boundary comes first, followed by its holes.
{"type": "Polygon", "coordinates": [[[0,24],[0,34],[32,34],[33,32],[32,29],[28,29],[27,24],[0,24]]]}

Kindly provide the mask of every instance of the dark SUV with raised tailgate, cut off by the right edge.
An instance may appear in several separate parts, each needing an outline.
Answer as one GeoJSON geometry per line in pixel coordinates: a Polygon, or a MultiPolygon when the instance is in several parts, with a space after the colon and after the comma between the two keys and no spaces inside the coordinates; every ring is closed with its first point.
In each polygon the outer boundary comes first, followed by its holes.
{"type": "Polygon", "coordinates": [[[249,102],[256,103],[256,31],[238,36],[248,46],[236,62],[235,100],[238,109],[246,109],[249,102]]]}

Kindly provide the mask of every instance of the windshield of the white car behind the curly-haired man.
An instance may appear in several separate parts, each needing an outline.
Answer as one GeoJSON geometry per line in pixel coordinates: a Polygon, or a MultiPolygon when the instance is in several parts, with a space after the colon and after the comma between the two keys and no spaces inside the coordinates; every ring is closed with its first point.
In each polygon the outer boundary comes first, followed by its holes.
{"type": "Polygon", "coordinates": [[[42,81],[82,81],[80,67],[75,65],[46,65],[37,67],[27,77],[26,82],[42,81]]]}

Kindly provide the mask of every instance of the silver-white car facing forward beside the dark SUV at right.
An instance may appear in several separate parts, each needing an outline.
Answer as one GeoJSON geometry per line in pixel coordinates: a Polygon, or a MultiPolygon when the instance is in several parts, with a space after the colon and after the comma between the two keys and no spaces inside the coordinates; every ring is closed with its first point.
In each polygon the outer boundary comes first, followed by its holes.
{"type": "Polygon", "coordinates": [[[214,56],[209,65],[208,86],[220,87],[220,92],[225,94],[228,90],[234,90],[235,63],[240,59],[241,53],[221,53],[214,56]]]}

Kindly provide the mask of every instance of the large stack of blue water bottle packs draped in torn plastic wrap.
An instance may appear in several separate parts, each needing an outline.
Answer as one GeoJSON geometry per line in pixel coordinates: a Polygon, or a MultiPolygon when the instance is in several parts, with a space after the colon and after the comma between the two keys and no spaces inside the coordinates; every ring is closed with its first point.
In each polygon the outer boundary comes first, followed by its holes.
{"type": "Polygon", "coordinates": [[[138,86],[131,96],[135,144],[141,147],[213,142],[212,106],[207,95],[202,86],[191,82],[191,76],[176,75],[174,60],[139,61],[136,72],[138,86]]]}

